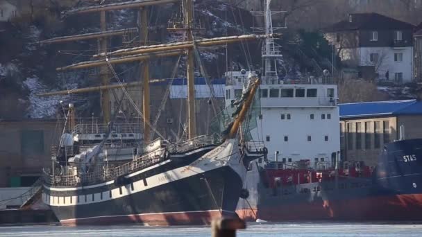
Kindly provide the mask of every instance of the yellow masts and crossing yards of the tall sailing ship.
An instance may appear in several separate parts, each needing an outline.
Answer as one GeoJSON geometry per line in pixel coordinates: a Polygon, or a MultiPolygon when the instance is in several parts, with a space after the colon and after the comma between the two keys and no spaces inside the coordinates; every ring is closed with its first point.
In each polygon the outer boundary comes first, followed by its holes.
{"type": "MultiPolygon", "coordinates": [[[[56,94],[72,94],[72,93],[83,93],[87,91],[99,90],[102,91],[101,96],[101,105],[103,109],[103,116],[105,123],[110,121],[110,95],[108,93],[109,89],[117,88],[117,85],[109,85],[108,76],[109,70],[108,67],[110,64],[120,64],[126,62],[140,62],[142,67],[142,72],[140,78],[142,82],[132,82],[126,83],[128,87],[143,85],[143,116],[144,116],[144,138],[150,139],[150,98],[149,98],[149,60],[159,57],[170,57],[176,55],[182,55],[185,53],[187,55],[187,121],[188,121],[188,135],[189,139],[192,139],[196,136],[196,112],[195,112],[195,90],[194,90],[194,57],[196,46],[214,46],[214,45],[226,45],[228,43],[235,42],[244,42],[246,40],[257,40],[264,39],[267,37],[272,37],[272,35],[240,35],[235,37],[219,37],[205,40],[194,40],[193,30],[194,30],[194,6],[193,0],[135,0],[128,2],[120,3],[110,3],[101,6],[91,6],[87,8],[78,8],[74,10],[69,10],[65,14],[81,14],[81,13],[91,13],[91,12],[100,12],[101,20],[101,32],[100,33],[88,33],[83,35],[74,35],[66,37],[57,37],[49,40],[44,40],[40,43],[49,44],[57,42],[69,42],[76,40],[86,40],[86,39],[99,39],[99,53],[94,55],[97,60],[88,61],[88,62],[78,62],[76,64],[71,64],[66,67],[57,68],[57,71],[65,71],[69,69],[86,69],[92,67],[100,68],[101,76],[101,86],[99,87],[89,87],[82,89],[75,89],[71,91],[56,91],[46,94],[41,94],[40,96],[53,96],[56,94]],[[155,6],[166,3],[176,3],[182,1],[183,4],[183,15],[184,15],[184,28],[187,35],[186,42],[178,42],[173,44],[160,44],[155,46],[146,45],[148,42],[148,6],[155,6]],[[106,19],[105,11],[107,10],[121,10],[126,8],[136,8],[138,12],[138,32],[140,35],[140,45],[132,49],[123,49],[114,52],[107,51],[107,37],[112,35],[123,35],[126,30],[106,30],[106,19]],[[115,55],[121,55],[120,57],[113,57],[115,55]]],[[[133,31],[133,28],[130,28],[130,31],[133,31]]],[[[120,87],[122,86],[119,84],[120,87]]]]}

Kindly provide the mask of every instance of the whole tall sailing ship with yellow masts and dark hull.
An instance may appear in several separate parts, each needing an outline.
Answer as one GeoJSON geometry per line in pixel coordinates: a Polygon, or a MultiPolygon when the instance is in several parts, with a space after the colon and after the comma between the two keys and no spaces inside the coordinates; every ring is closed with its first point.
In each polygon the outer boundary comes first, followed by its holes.
{"type": "MultiPolygon", "coordinates": [[[[78,62],[59,71],[100,67],[102,85],[72,91],[44,94],[71,94],[101,90],[104,123],[83,123],[76,118],[70,104],[65,129],[53,149],[52,167],[44,170],[42,200],[51,207],[63,225],[110,225],[142,223],[149,225],[183,225],[209,223],[213,218],[237,216],[235,208],[242,193],[246,161],[263,155],[262,143],[246,141],[245,128],[260,79],[251,75],[242,96],[233,103],[231,123],[221,137],[196,136],[194,97],[194,57],[197,46],[235,43],[265,38],[267,35],[242,35],[195,40],[192,0],[138,0],[78,8],[69,14],[100,12],[101,32],[58,37],[44,44],[73,40],[99,39],[98,60],[78,62]],[[148,38],[149,6],[182,3],[183,28],[187,41],[172,44],[144,45],[148,38]],[[122,30],[106,30],[105,12],[124,8],[139,9],[140,46],[108,52],[106,37],[122,30]],[[187,56],[187,139],[171,143],[150,122],[149,63],[158,57],[187,56]],[[123,56],[122,56],[123,55],[123,56]],[[123,83],[114,64],[142,61],[142,81],[123,83]],[[119,82],[109,85],[112,76],[119,82]],[[143,128],[135,123],[118,123],[117,112],[110,112],[110,90],[119,88],[128,96],[126,87],[143,86],[143,128]],[[151,141],[151,130],[160,138],[151,141]]],[[[128,100],[132,101],[131,98],[128,100]]],[[[117,111],[121,106],[118,101],[117,111]]],[[[226,125],[226,126],[225,126],[226,125]]],[[[244,190],[243,190],[244,192],[244,190]]]]}

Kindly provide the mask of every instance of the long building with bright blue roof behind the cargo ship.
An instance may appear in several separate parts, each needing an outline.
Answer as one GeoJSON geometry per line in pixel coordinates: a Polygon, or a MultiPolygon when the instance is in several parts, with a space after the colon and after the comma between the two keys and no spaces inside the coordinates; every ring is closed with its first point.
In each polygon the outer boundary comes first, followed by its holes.
{"type": "Polygon", "coordinates": [[[343,160],[375,166],[385,143],[422,138],[421,100],[348,103],[339,108],[343,160]]]}

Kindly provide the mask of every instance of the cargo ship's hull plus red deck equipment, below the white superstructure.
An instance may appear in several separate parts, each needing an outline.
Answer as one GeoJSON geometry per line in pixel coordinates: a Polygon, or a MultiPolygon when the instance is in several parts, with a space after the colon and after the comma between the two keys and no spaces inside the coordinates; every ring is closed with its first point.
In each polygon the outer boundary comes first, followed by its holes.
{"type": "Polygon", "coordinates": [[[422,139],[385,145],[378,166],[362,161],[310,168],[254,161],[250,191],[237,213],[246,220],[422,220],[422,139]]]}

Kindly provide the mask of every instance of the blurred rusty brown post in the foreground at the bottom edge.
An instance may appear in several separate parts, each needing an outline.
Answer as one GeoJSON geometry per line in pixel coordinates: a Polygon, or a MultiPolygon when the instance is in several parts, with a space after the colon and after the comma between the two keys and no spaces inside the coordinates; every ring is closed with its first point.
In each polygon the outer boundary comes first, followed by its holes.
{"type": "Polygon", "coordinates": [[[246,229],[246,223],[240,219],[213,220],[212,237],[235,237],[237,229],[246,229]]]}

